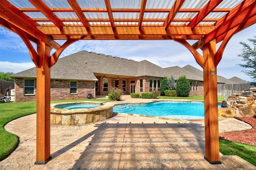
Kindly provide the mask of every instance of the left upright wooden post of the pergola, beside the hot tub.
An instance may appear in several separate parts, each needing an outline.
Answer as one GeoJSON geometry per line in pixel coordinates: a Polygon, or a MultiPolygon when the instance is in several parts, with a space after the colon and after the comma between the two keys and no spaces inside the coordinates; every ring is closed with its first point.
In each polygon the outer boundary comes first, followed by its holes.
{"type": "Polygon", "coordinates": [[[46,164],[50,156],[50,46],[38,41],[36,69],[36,162],[46,164]]]}

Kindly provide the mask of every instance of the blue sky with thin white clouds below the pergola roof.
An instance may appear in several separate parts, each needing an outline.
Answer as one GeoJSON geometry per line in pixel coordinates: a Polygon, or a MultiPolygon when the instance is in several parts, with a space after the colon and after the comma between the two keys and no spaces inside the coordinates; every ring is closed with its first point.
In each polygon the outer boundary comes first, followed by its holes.
{"type": "MultiPolygon", "coordinates": [[[[237,64],[244,63],[238,55],[242,51],[239,42],[248,42],[249,38],[256,36],[256,24],[235,34],[228,42],[222,60],[217,66],[217,74],[230,79],[234,76],[245,81],[252,81],[242,71],[246,70],[237,64]]],[[[63,44],[64,41],[57,41],[63,44]]],[[[188,41],[193,44],[196,41],[188,41]]],[[[36,44],[32,43],[34,47],[36,44]]],[[[252,47],[252,44],[250,44],[252,47]]],[[[220,43],[217,45],[217,49],[220,43]]],[[[172,40],[80,40],[67,47],[60,57],[87,50],[97,53],[114,55],[133,59],[135,61],[148,60],[160,67],[192,65],[200,70],[193,55],[180,43],[172,40]]],[[[54,51],[52,51],[53,53],[54,51]]],[[[202,54],[202,50],[198,50],[202,54]]],[[[22,39],[13,32],[0,26],[0,72],[18,73],[35,67],[30,54],[22,39]]]]}

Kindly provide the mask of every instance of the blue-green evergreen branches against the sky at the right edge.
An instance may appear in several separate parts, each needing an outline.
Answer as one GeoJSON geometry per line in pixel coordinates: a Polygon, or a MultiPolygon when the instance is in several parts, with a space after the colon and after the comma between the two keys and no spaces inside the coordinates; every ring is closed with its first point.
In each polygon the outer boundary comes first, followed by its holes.
{"type": "Polygon", "coordinates": [[[237,65],[250,69],[242,72],[251,77],[254,80],[254,83],[256,83],[256,36],[254,36],[254,38],[249,38],[248,41],[252,43],[254,47],[250,47],[250,45],[245,42],[239,42],[243,45],[243,49],[238,57],[242,57],[242,61],[245,61],[246,63],[237,65]]]}

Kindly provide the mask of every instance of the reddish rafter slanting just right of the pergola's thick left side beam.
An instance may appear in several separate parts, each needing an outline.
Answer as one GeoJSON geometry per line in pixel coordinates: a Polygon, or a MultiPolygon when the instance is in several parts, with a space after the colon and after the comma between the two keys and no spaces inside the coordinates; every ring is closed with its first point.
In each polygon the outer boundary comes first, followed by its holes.
{"type": "Polygon", "coordinates": [[[65,24],[44,4],[42,0],[28,0],[32,5],[42,12],[54,25],[61,29],[65,24]]]}

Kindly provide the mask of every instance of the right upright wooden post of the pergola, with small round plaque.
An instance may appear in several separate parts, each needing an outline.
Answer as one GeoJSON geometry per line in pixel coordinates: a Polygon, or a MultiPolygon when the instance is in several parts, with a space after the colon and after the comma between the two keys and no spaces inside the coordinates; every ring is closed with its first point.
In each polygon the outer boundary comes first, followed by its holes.
{"type": "Polygon", "coordinates": [[[221,164],[218,130],[217,70],[214,66],[216,40],[203,45],[205,156],[210,164],[221,164]]]}

